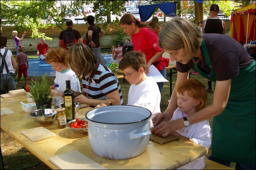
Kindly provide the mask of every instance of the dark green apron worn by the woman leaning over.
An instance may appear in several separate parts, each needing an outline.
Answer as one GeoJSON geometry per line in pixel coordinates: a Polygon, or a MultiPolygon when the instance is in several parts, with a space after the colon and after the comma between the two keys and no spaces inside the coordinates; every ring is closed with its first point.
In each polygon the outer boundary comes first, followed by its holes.
{"type": "MultiPolygon", "coordinates": [[[[201,48],[211,70],[210,76],[195,63],[194,68],[203,77],[216,82],[204,41],[201,48]]],[[[254,60],[247,67],[239,69],[239,75],[232,79],[226,108],[220,115],[213,117],[213,157],[234,163],[255,164],[255,77],[254,60]]]]}

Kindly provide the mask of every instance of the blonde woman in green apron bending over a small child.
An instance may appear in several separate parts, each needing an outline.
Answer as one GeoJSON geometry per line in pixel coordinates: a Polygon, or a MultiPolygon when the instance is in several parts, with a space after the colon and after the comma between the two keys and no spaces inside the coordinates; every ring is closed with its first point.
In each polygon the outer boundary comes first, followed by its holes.
{"type": "Polygon", "coordinates": [[[236,168],[255,169],[255,60],[234,38],[201,34],[198,27],[173,17],[162,27],[160,48],[176,60],[176,86],[187,79],[189,70],[215,82],[213,102],[187,119],[170,121],[177,108],[175,88],[164,113],[152,119],[154,133],[163,137],[213,117],[212,154],[209,159],[236,168]]]}

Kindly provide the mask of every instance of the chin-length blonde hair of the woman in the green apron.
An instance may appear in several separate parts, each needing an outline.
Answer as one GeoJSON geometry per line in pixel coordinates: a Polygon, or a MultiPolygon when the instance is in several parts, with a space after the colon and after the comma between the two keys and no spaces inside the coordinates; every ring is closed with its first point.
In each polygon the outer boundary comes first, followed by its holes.
{"type": "Polygon", "coordinates": [[[198,26],[180,16],[175,16],[165,22],[159,34],[161,49],[178,50],[184,48],[188,59],[194,57],[202,40],[198,26]]]}

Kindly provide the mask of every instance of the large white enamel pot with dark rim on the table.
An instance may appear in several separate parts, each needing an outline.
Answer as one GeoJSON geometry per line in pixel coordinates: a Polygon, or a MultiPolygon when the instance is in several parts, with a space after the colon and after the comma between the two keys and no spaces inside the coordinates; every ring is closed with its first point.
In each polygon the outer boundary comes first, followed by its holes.
{"type": "Polygon", "coordinates": [[[115,105],[85,114],[88,137],[95,154],[128,159],[142,154],[150,138],[151,112],[138,106],[115,105]]]}

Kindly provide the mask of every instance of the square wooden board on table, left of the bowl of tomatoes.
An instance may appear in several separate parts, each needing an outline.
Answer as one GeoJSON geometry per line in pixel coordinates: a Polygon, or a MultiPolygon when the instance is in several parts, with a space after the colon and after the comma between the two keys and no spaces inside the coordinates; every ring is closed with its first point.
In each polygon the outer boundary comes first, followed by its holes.
{"type": "Polygon", "coordinates": [[[50,130],[46,129],[43,126],[33,128],[33,129],[23,130],[21,133],[26,137],[28,137],[33,142],[41,141],[41,140],[56,136],[55,133],[52,133],[50,130]]]}

